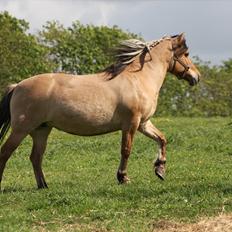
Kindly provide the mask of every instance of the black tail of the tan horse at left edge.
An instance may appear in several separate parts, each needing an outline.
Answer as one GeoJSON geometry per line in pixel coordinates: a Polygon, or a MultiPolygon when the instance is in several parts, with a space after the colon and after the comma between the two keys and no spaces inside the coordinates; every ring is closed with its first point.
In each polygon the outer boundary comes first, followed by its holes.
{"type": "Polygon", "coordinates": [[[0,145],[10,128],[10,100],[17,84],[8,86],[0,101],[0,145]]]}

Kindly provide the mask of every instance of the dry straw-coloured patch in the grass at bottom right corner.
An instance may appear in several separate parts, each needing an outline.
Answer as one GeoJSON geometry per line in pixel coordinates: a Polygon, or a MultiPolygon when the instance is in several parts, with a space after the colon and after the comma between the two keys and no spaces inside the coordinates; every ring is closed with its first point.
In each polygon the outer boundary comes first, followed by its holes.
{"type": "Polygon", "coordinates": [[[185,224],[159,221],[153,225],[153,232],[231,232],[232,214],[215,218],[204,218],[197,223],[185,224]]]}

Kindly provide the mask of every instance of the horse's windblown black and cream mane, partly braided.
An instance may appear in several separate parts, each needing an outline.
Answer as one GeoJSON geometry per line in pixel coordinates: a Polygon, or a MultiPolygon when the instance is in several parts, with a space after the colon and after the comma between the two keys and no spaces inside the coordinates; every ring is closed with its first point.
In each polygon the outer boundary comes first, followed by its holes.
{"type": "Polygon", "coordinates": [[[138,56],[150,53],[150,50],[159,44],[163,37],[159,40],[143,42],[137,39],[124,40],[114,49],[115,63],[107,67],[104,71],[110,76],[110,80],[119,75],[124,69],[131,64],[138,56]]]}

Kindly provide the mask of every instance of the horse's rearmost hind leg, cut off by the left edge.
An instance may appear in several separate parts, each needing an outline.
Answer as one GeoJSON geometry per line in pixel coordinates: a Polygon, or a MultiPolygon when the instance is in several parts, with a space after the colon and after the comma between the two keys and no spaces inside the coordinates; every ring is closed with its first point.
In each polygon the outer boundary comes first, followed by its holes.
{"type": "Polygon", "coordinates": [[[10,158],[14,150],[19,146],[22,140],[26,137],[26,133],[20,133],[16,131],[12,131],[6,142],[1,148],[0,152],[0,189],[1,189],[1,181],[4,168],[6,166],[7,160],[10,158]]]}

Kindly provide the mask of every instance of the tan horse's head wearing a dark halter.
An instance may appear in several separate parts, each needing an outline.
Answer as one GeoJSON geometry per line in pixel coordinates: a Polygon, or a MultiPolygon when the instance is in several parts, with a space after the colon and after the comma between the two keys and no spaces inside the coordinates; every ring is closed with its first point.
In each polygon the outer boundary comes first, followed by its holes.
{"type": "Polygon", "coordinates": [[[200,80],[200,72],[189,58],[184,34],[171,37],[173,56],[169,64],[169,72],[179,79],[185,79],[190,85],[200,80]]]}

